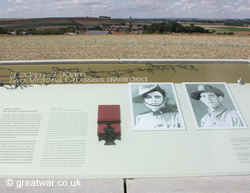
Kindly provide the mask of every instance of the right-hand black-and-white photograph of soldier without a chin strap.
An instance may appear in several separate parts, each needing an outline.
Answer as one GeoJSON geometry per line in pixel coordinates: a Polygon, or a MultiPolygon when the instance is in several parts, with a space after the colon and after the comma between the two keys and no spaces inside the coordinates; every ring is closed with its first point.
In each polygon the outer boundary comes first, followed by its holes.
{"type": "Polygon", "coordinates": [[[198,129],[247,128],[226,83],[183,83],[198,129]]]}

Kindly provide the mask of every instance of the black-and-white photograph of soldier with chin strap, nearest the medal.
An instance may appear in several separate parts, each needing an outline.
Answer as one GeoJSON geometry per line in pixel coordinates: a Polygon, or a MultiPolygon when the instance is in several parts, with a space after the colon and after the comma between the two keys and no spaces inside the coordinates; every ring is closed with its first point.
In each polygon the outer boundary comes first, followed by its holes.
{"type": "Polygon", "coordinates": [[[130,83],[133,130],[185,130],[173,83],[130,83]]]}

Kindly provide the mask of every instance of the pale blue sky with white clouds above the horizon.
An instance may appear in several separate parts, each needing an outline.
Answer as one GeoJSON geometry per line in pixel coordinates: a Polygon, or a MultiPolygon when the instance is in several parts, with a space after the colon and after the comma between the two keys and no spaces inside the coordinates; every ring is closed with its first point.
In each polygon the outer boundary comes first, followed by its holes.
{"type": "Polygon", "coordinates": [[[0,18],[250,18],[250,0],[0,0],[0,18]]]}

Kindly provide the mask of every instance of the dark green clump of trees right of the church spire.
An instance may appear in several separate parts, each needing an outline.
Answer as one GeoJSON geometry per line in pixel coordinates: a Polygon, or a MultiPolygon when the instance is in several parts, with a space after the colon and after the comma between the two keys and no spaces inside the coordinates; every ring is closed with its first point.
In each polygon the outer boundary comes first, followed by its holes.
{"type": "Polygon", "coordinates": [[[210,33],[209,30],[204,29],[203,27],[195,26],[191,24],[190,26],[183,26],[176,21],[163,22],[163,23],[153,23],[151,25],[144,25],[144,33],[153,34],[153,33],[210,33]]]}

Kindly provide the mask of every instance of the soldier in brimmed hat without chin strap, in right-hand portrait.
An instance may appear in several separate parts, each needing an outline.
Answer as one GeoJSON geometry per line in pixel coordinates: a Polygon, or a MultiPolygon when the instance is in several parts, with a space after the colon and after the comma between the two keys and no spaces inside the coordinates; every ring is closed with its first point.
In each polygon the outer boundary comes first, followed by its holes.
{"type": "Polygon", "coordinates": [[[243,127],[238,112],[222,104],[225,94],[212,85],[198,85],[197,91],[191,92],[191,98],[205,104],[208,108],[200,121],[201,127],[243,127]]]}

